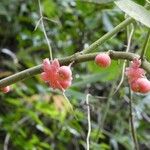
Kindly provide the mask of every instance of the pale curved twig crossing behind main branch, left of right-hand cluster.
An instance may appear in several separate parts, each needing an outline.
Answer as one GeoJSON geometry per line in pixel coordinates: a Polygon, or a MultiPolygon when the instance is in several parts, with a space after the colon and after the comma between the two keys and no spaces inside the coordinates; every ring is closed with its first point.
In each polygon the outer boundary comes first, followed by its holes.
{"type": "MultiPolygon", "coordinates": [[[[132,40],[132,36],[133,36],[134,30],[135,30],[134,25],[133,25],[133,24],[131,24],[131,25],[132,25],[132,26],[131,26],[131,27],[132,27],[132,28],[131,28],[131,33],[130,33],[129,37],[127,37],[127,38],[128,38],[128,42],[127,42],[126,52],[129,52],[129,50],[130,50],[130,47],[131,47],[131,40],[132,40]]],[[[114,91],[114,94],[113,94],[113,95],[115,95],[115,94],[118,92],[118,90],[120,89],[120,87],[121,87],[121,85],[122,85],[122,83],[123,83],[123,81],[124,81],[125,68],[126,68],[126,60],[124,60],[124,62],[123,62],[122,73],[121,73],[121,79],[120,79],[120,82],[119,82],[119,84],[118,84],[116,90],[114,91]]]]}

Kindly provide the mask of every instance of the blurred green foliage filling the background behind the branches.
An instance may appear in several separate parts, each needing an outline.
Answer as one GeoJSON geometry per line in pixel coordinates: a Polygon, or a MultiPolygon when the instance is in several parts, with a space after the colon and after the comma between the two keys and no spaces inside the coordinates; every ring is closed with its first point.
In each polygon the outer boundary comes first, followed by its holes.
{"type": "MultiPolygon", "coordinates": [[[[136,0],[143,5],[143,1],[136,0]]],[[[113,0],[43,0],[44,25],[54,57],[61,58],[84,47],[124,20],[113,0]]],[[[37,0],[0,1],[0,78],[38,65],[49,57],[41,26],[37,0]]],[[[130,51],[140,53],[147,32],[137,23],[130,51]]],[[[126,29],[101,45],[97,51],[124,51],[126,29]]],[[[150,44],[149,44],[150,49],[150,44]]],[[[95,50],[96,51],[96,50],[95,50]]],[[[150,51],[147,51],[150,60],[150,51]]],[[[92,150],[131,150],[128,84],[111,93],[121,78],[122,61],[108,69],[94,62],[72,68],[73,85],[66,95],[78,119],[67,112],[64,97],[48,88],[37,75],[0,93],[0,149],[4,150],[82,150],[86,149],[87,112],[84,103],[89,92],[92,150]],[[110,97],[100,99],[95,96],[110,97]]],[[[141,150],[150,148],[150,95],[133,95],[135,126],[141,150]]]]}

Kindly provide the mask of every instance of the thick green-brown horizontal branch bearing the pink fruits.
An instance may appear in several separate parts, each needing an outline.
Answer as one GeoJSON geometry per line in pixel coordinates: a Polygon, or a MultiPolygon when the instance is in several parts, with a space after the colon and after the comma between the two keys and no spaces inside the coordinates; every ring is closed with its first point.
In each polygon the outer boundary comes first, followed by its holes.
{"type": "MultiPolygon", "coordinates": [[[[71,62],[74,62],[74,64],[86,62],[86,61],[93,61],[95,56],[98,53],[90,53],[90,54],[74,54],[72,56],[59,59],[59,62],[61,65],[69,65],[71,62]]],[[[125,59],[131,61],[135,57],[140,57],[139,55],[136,55],[134,53],[126,53],[126,52],[119,52],[119,51],[109,51],[109,55],[111,59],[118,60],[118,59],[125,59]]],[[[142,61],[142,67],[147,71],[148,74],[150,74],[150,63],[146,60],[142,61]]],[[[6,77],[2,80],[0,80],[0,88],[6,87],[8,85],[11,85],[13,83],[16,83],[18,81],[21,81],[23,79],[27,79],[29,77],[32,77],[34,75],[37,75],[42,72],[42,64],[23,70],[21,72],[18,72],[14,75],[11,75],[9,77],[6,77]]]]}

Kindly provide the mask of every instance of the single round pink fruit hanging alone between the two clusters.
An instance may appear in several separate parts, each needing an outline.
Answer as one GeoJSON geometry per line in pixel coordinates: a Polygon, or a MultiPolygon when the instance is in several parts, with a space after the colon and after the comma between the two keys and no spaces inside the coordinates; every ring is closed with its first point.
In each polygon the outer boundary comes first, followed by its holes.
{"type": "Polygon", "coordinates": [[[96,62],[96,64],[98,66],[106,68],[106,67],[110,66],[110,64],[111,64],[111,58],[110,58],[110,56],[108,54],[101,53],[101,54],[98,54],[95,57],[95,62],[96,62]]]}

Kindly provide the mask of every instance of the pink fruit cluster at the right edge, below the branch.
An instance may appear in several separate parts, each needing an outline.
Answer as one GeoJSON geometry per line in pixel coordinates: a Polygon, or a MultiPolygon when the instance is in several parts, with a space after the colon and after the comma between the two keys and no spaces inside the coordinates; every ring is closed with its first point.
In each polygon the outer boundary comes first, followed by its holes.
{"type": "Polygon", "coordinates": [[[140,68],[141,60],[138,58],[133,59],[125,74],[128,77],[128,82],[132,91],[139,93],[150,92],[150,81],[145,76],[144,69],[140,68]]]}

